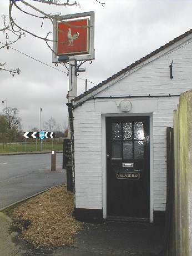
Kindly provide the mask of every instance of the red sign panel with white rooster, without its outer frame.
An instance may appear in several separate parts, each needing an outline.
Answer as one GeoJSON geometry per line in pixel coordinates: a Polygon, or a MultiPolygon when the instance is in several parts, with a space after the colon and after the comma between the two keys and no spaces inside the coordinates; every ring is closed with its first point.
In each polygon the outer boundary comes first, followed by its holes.
{"type": "Polygon", "coordinates": [[[89,19],[87,18],[58,22],[56,54],[58,56],[89,54],[89,28],[89,19]]]}

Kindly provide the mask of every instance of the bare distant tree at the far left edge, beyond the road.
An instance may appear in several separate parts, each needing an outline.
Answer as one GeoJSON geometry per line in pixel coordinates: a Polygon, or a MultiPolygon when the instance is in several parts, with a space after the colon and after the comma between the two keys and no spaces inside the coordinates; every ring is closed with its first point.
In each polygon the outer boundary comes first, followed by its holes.
{"type": "Polygon", "coordinates": [[[3,130],[3,136],[6,143],[11,143],[16,139],[18,133],[21,133],[21,118],[17,108],[4,108],[1,113],[0,129],[3,130]],[[3,128],[4,127],[4,128],[3,128]]]}

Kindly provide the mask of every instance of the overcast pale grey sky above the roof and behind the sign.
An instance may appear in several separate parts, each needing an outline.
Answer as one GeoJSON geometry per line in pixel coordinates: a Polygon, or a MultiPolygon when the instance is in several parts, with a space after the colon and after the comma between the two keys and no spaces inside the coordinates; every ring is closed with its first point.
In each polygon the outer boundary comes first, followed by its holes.
{"type": "MultiPolygon", "coordinates": [[[[42,3],[26,1],[45,8],[42,3]]],[[[86,78],[88,89],[92,88],[192,28],[192,0],[103,0],[104,8],[95,0],[77,2],[81,8],[46,8],[48,12],[62,15],[95,11],[95,60],[82,66],[86,72],[79,74],[78,94],[84,92],[86,78]]],[[[21,2],[17,3],[22,6],[21,2]]],[[[8,6],[9,0],[0,0],[1,16],[8,13],[8,6]]],[[[50,23],[41,28],[42,21],[17,12],[14,15],[29,31],[38,34],[52,31],[50,23]]],[[[0,42],[4,42],[2,34],[0,42]]],[[[15,77],[8,72],[0,73],[0,101],[7,98],[8,107],[18,108],[23,132],[39,128],[40,108],[43,108],[42,124],[53,117],[64,126],[67,121],[67,69],[54,66],[52,52],[39,39],[27,35],[12,47],[16,51],[0,50],[0,63],[6,62],[6,68],[19,68],[22,73],[15,77]]],[[[4,107],[6,104],[1,104],[0,111],[4,107]]]]}

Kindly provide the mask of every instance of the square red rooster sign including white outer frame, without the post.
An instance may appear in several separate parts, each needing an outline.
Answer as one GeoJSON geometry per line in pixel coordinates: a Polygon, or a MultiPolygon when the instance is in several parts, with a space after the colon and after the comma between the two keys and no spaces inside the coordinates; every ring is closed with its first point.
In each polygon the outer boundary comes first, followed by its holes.
{"type": "Polygon", "coordinates": [[[95,58],[94,17],[94,12],[83,12],[53,19],[53,63],[95,58]]]}

